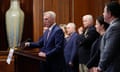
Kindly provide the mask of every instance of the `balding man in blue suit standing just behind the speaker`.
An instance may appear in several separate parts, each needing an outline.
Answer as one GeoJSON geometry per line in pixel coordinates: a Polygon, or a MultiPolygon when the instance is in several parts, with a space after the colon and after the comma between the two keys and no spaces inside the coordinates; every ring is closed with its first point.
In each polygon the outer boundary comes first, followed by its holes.
{"type": "Polygon", "coordinates": [[[66,61],[67,72],[78,72],[78,60],[77,60],[77,37],[79,36],[75,31],[75,24],[68,23],[66,26],[67,40],[65,42],[64,56],[66,61]]]}

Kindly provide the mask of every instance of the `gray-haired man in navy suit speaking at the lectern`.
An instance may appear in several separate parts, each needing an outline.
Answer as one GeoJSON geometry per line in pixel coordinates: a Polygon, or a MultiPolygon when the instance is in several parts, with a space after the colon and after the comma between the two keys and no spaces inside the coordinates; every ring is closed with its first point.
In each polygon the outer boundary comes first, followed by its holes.
{"type": "Polygon", "coordinates": [[[46,62],[40,61],[40,72],[63,72],[64,69],[64,33],[55,23],[56,14],[53,11],[44,13],[43,22],[48,30],[38,42],[27,42],[26,46],[39,47],[38,53],[46,57],[46,62]]]}

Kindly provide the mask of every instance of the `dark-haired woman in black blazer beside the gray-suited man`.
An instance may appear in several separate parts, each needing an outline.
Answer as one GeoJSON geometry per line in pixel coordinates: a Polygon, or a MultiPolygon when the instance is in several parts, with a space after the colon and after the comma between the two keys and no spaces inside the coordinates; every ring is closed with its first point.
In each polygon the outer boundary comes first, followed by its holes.
{"type": "Polygon", "coordinates": [[[100,59],[100,42],[103,34],[105,33],[106,29],[108,28],[109,24],[104,22],[103,16],[99,16],[96,19],[96,31],[100,34],[100,37],[95,40],[92,45],[91,53],[90,53],[90,60],[87,63],[87,67],[90,72],[94,70],[94,67],[98,66],[98,62],[100,59]]]}

